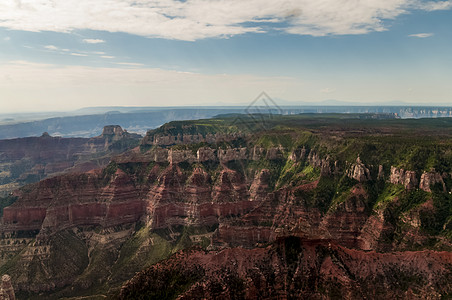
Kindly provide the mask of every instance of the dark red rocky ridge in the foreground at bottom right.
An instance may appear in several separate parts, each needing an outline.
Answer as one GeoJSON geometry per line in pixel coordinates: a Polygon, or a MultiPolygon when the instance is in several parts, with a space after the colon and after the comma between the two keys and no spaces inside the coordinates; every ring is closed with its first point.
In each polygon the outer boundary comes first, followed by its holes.
{"type": "Polygon", "coordinates": [[[178,253],[137,274],[119,298],[157,299],[168,291],[179,299],[439,299],[452,288],[451,270],[446,252],[383,254],[285,237],[252,250],[178,253]]]}

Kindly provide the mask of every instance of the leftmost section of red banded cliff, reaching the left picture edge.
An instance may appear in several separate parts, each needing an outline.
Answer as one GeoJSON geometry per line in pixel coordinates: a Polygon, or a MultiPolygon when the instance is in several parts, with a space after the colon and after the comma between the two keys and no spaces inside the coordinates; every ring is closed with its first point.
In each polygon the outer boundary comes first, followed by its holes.
{"type": "Polygon", "coordinates": [[[20,201],[6,207],[2,232],[40,230],[48,234],[77,225],[115,226],[137,221],[144,212],[139,191],[118,170],[109,185],[101,174],[71,174],[43,180],[19,191],[20,201]]]}

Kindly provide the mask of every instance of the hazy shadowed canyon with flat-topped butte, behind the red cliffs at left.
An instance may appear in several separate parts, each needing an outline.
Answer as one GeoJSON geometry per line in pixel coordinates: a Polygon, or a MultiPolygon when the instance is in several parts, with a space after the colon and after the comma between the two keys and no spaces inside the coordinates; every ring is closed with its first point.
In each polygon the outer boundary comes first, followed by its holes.
{"type": "Polygon", "coordinates": [[[44,132],[40,137],[0,140],[0,195],[64,172],[100,168],[108,164],[110,154],[137,145],[140,139],[110,125],[93,138],[52,137],[44,132]]]}

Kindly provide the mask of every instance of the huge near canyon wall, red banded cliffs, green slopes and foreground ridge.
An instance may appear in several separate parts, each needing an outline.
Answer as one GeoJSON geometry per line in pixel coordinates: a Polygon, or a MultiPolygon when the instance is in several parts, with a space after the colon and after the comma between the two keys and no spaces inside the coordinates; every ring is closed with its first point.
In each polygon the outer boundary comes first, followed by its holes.
{"type": "Polygon", "coordinates": [[[450,295],[447,139],[412,142],[403,120],[233,121],[171,122],[101,168],[15,190],[0,271],[25,297],[134,299],[168,281],[180,299],[450,295]]]}

